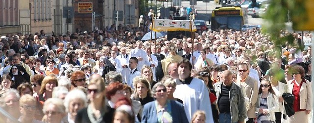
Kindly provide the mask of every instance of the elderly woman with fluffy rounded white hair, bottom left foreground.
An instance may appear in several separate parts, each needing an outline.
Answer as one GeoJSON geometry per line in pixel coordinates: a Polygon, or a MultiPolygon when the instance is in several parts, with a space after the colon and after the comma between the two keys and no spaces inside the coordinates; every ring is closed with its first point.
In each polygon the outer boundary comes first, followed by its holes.
{"type": "Polygon", "coordinates": [[[69,123],[75,123],[74,120],[78,111],[87,106],[87,96],[83,91],[73,89],[65,97],[64,106],[68,113],[67,121],[69,123]]]}

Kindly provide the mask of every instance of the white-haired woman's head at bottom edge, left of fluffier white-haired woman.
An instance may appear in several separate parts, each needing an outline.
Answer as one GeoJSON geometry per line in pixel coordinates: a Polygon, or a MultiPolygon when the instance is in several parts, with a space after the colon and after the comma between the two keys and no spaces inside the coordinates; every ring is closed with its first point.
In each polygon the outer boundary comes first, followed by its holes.
{"type": "Polygon", "coordinates": [[[45,101],[43,112],[46,115],[43,118],[45,123],[64,123],[62,118],[65,116],[65,106],[59,98],[49,98],[45,101]]]}

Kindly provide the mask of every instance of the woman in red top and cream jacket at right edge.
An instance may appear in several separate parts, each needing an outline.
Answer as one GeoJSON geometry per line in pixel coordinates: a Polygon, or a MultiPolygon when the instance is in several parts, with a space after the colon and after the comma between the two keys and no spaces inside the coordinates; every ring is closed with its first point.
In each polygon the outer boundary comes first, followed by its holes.
{"type": "Polygon", "coordinates": [[[289,123],[308,123],[308,116],[312,110],[312,88],[311,83],[304,79],[304,68],[296,65],[292,67],[294,79],[287,82],[289,93],[295,99],[293,109],[295,114],[288,118],[289,123]]]}

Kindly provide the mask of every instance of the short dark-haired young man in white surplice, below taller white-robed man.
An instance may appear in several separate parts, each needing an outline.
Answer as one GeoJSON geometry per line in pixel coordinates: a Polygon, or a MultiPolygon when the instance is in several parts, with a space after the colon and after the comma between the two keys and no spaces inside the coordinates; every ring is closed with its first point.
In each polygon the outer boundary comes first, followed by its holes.
{"type": "Polygon", "coordinates": [[[130,86],[131,88],[134,89],[134,86],[133,86],[133,79],[136,77],[136,76],[141,76],[141,72],[140,70],[137,69],[137,65],[138,65],[138,59],[136,57],[131,57],[129,59],[129,68],[130,68],[130,77],[129,77],[129,80],[128,80],[128,86],[130,86]]]}

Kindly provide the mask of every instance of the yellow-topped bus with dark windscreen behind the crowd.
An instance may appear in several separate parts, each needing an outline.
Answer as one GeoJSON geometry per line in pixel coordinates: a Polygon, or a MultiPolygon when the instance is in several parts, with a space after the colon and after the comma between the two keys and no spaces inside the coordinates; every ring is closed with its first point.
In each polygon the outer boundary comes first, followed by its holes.
{"type": "Polygon", "coordinates": [[[217,7],[212,11],[211,30],[241,30],[245,24],[248,24],[247,12],[239,6],[217,7]]]}

